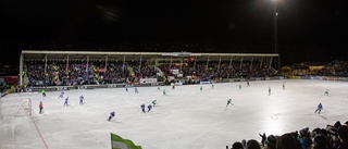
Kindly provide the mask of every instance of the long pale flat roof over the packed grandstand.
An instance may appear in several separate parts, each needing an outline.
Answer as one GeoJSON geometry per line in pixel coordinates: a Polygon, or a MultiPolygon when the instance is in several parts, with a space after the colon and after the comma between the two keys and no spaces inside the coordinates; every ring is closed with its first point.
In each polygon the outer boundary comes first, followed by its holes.
{"type": "Polygon", "coordinates": [[[276,53],[191,53],[191,52],[107,52],[107,51],[42,51],[22,50],[23,60],[108,60],[129,61],[195,57],[197,61],[257,60],[278,57],[276,53]]]}

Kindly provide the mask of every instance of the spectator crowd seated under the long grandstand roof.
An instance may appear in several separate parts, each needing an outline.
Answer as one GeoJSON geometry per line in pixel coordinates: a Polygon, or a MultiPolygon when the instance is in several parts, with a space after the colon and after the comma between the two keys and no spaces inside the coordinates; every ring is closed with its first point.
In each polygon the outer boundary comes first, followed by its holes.
{"type": "MultiPolygon", "coordinates": [[[[24,76],[27,77],[27,86],[71,86],[94,84],[116,84],[124,82],[137,83],[140,78],[158,78],[158,82],[166,80],[169,76],[185,78],[187,76],[199,83],[207,79],[222,78],[248,78],[274,76],[276,73],[266,65],[258,62],[221,63],[187,62],[182,65],[156,63],[151,64],[138,61],[128,62],[59,62],[26,61],[24,76]],[[175,72],[173,71],[175,70],[175,72]],[[181,74],[181,75],[178,75],[181,74]]],[[[191,82],[189,82],[191,83],[191,82]]]]}

